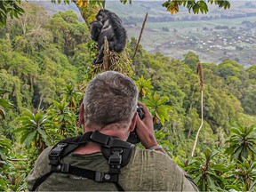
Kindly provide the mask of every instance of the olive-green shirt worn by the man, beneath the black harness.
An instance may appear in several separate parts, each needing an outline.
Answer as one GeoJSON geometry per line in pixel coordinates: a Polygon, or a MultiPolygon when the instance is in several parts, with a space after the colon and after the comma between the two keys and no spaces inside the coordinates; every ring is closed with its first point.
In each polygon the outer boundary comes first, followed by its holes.
{"type": "MultiPolygon", "coordinates": [[[[48,153],[46,148],[37,158],[34,169],[28,174],[28,190],[35,180],[49,172],[48,153]]],[[[69,163],[92,171],[108,172],[108,161],[101,153],[78,155],[71,153],[60,162],[69,163]]],[[[121,168],[119,184],[125,191],[196,191],[196,186],[184,176],[184,171],[167,155],[155,150],[135,148],[132,157],[124,168],[121,168]]],[[[94,180],[77,177],[71,174],[52,173],[36,190],[40,191],[105,191],[116,190],[113,183],[99,183],[94,180]]]]}

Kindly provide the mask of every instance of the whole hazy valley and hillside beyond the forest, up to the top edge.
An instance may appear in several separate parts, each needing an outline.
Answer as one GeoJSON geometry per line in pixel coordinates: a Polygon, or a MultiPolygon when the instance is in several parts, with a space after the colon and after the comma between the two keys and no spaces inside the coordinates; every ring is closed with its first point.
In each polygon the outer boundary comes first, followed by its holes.
{"type": "MultiPolygon", "coordinates": [[[[75,4],[40,4],[50,15],[71,9],[80,16],[75,4]]],[[[209,13],[198,15],[188,13],[185,9],[171,15],[161,4],[120,4],[107,1],[106,8],[122,18],[129,38],[138,38],[142,21],[148,12],[146,28],[141,39],[141,44],[148,52],[162,52],[170,58],[182,59],[183,54],[193,51],[201,60],[207,62],[220,63],[222,60],[231,59],[244,67],[256,64],[255,2],[234,1],[226,11],[212,5],[209,13]]],[[[79,20],[83,20],[81,16],[79,20]]]]}

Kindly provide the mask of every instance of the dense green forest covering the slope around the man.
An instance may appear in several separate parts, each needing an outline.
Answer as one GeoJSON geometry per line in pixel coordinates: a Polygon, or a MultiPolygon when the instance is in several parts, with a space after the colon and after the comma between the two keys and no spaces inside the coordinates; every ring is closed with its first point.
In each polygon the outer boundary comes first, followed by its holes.
{"type": "MultiPolygon", "coordinates": [[[[86,84],[104,68],[92,66],[95,43],[72,11],[51,17],[23,4],[20,19],[0,28],[0,190],[24,191],[36,157],[58,140],[82,134],[77,113],[86,84]]],[[[188,52],[174,60],[128,40],[118,70],[136,82],[154,118],[156,137],[201,190],[256,191],[256,66],[235,60],[201,63],[188,52]],[[125,66],[126,63],[126,66],[125,66]],[[202,120],[204,126],[191,156],[202,120]]],[[[175,53],[173,53],[175,54],[175,53]]],[[[115,100],[113,100],[115,102],[115,100]]],[[[139,145],[140,147],[140,145],[139,145]]]]}

